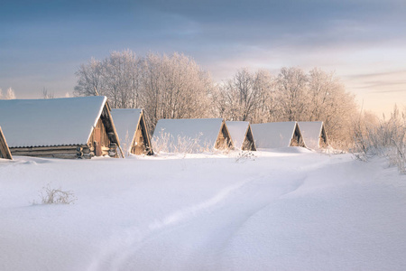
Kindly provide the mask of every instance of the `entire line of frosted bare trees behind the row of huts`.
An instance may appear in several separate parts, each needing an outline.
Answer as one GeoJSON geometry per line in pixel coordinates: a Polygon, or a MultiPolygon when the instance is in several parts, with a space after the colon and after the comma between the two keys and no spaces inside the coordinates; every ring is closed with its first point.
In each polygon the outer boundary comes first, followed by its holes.
{"type": "Polygon", "coordinates": [[[329,139],[353,141],[355,97],[333,74],[313,69],[282,68],[236,71],[215,83],[206,70],[180,53],[137,56],[114,51],[91,59],[76,72],[75,95],[105,95],[116,108],[142,107],[150,131],[160,118],[224,117],[252,123],[322,120],[329,139]]]}

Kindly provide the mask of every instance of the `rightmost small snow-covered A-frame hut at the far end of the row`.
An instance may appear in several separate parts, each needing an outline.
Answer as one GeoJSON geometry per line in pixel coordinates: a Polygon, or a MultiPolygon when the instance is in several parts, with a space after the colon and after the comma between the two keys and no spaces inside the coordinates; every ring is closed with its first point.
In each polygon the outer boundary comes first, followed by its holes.
{"type": "Polygon", "coordinates": [[[309,148],[317,150],[328,146],[326,128],[322,121],[300,121],[299,127],[309,148]]]}

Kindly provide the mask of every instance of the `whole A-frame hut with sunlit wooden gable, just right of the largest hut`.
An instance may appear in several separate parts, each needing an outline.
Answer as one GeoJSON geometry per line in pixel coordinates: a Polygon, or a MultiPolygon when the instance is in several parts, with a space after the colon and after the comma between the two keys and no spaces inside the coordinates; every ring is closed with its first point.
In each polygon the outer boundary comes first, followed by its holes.
{"type": "Polygon", "coordinates": [[[111,115],[125,154],[153,154],[143,109],[112,109],[111,115]]]}

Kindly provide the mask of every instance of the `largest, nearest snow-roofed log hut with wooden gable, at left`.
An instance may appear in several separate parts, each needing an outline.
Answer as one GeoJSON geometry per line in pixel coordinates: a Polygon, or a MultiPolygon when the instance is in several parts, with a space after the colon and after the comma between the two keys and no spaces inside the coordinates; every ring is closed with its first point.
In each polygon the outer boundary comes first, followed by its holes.
{"type": "Polygon", "coordinates": [[[118,135],[103,96],[0,100],[0,123],[13,155],[118,157],[118,135]]]}

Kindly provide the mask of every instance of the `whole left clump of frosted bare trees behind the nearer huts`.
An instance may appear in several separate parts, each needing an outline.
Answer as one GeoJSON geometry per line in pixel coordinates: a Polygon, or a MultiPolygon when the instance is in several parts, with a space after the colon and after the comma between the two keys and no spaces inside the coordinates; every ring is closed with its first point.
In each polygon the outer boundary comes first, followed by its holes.
{"type": "Polygon", "coordinates": [[[143,107],[151,127],[160,118],[208,117],[213,82],[183,54],[139,58],[130,50],[113,51],[81,65],[76,76],[75,95],[105,95],[115,108],[143,107]]]}

